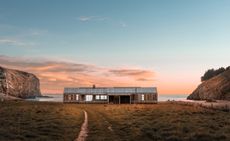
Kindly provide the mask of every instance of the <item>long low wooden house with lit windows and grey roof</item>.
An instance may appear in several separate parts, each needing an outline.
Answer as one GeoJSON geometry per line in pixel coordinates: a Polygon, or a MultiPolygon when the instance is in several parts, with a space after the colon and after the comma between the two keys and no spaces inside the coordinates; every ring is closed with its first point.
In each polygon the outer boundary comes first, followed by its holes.
{"type": "Polygon", "coordinates": [[[156,87],[78,87],[65,88],[64,103],[135,104],[156,103],[156,87]]]}

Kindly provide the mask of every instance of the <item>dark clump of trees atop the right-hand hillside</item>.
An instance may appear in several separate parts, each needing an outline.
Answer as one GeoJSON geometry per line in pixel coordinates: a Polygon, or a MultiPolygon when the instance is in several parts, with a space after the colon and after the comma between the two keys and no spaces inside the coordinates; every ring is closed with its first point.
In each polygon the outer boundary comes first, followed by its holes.
{"type": "Polygon", "coordinates": [[[223,67],[221,67],[221,68],[219,68],[219,69],[217,69],[217,70],[215,70],[215,69],[209,69],[209,70],[207,70],[207,71],[204,73],[204,75],[201,77],[201,81],[209,80],[209,79],[211,79],[212,77],[217,76],[217,75],[219,75],[219,74],[221,74],[221,73],[223,73],[224,71],[229,70],[229,69],[230,69],[230,66],[227,67],[226,69],[223,68],[223,67]]]}

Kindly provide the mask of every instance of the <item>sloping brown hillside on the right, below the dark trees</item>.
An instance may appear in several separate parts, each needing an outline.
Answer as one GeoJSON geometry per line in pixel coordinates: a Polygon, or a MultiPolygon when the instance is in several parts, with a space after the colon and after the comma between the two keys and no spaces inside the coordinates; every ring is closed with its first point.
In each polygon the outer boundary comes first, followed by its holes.
{"type": "Polygon", "coordinates": [[[230,100],[230,70],[201,83],[187,99],[230,100]]]}

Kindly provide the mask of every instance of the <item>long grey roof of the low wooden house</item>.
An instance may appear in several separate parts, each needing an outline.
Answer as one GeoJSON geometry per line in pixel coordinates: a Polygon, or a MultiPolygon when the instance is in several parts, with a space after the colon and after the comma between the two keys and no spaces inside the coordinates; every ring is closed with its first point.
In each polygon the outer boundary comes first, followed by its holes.
{"type": "Polygon", "coordinates": [[[64,88],[64,94],[149,94],[157,93],[156,87],[76,87],[64,88]]]}

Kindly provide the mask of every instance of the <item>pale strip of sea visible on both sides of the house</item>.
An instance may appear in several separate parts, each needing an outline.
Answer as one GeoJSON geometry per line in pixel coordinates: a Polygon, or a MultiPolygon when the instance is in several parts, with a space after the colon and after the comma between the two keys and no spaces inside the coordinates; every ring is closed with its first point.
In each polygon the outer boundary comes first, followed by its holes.
{"type": "MultiPolygon", "coordinates": [[[[31,101],[49,101],[49,102],[63,102],[63,94],[43,94],[44,96],[48,97],[37,97],[35,99],[28,99],[31,101]]],[[[186,100],[188,95],[186,94],[159,94],[158,95],[158,101],[180,101],[180,100],[186,100]]]]}

